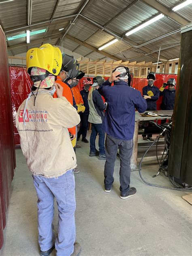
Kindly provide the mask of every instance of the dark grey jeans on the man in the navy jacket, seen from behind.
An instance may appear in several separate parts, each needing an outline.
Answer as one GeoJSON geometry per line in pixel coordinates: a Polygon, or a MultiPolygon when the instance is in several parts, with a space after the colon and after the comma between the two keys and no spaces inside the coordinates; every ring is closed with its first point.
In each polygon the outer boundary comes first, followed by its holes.
{"type": "Polygon", "coordinates": [[[114,178],[114,166],[115,160],[117,157],[117,149],[119,146],[119,158],[120,158],[120,191],[122,195],[125,195],[129,191],[129,184],[130,184],[130,160],[132,156],[132,149],[133,149],[133,140],[122,140],[116,139],[107,134],[105,140],[105,154],[106,154],[106,162],[105,162],[105,188],[110,189],[114,178]]]}

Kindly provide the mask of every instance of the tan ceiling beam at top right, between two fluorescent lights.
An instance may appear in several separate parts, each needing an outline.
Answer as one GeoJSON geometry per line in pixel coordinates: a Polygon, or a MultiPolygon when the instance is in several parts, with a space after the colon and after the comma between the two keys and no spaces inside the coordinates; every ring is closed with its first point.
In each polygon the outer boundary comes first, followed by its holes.
{"type": "Polygon", "coordinates": [[[189,23],[189,21],[187,19],[184,19],[183,17],[179,16],[177,13],[171,11],[171,9],[167,8],[166,6],[164,6],[163,4],[161,4],[160,2],[158,2],[156,0],[142,0],[142,1],[145,4],[148,4],[152,8],[156,9],[160,13],[164,14],[165,16],[170,17],[171,19],[174,19],[181,25],[185,25],[185,24],[189,23]]]}

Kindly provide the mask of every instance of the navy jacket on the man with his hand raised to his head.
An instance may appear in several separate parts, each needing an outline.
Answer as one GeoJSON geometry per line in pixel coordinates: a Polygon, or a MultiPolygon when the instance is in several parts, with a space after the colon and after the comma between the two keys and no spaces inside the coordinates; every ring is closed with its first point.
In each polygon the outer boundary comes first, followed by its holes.
{"type": "Polygon", "coordinates": [[[107,110],[103,121],[104,131],[117,138],[130,140],[133,138],[135,125],[135,108],[139,113],[145,112],[147,102],[141,93],[129,87],[125,81],[111,86],[105,81],[98,89],[105,98],[107,110]]]}

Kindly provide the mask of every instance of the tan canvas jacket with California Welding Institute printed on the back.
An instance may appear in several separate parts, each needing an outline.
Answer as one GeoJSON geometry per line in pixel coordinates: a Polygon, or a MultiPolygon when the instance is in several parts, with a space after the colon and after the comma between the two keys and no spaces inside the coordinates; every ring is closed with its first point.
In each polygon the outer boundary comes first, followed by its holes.
{"type": "Polygon", "coordinates": [[[16,127],[20,135],[21,149],[34,175],[58,177],[77,166],[68,128],[80,122],[76,109],[65,97],[53,98],[49,91],[39,89],[34,106],[34,96],[28,100],[26,125],[20,105],[16,127]]]}

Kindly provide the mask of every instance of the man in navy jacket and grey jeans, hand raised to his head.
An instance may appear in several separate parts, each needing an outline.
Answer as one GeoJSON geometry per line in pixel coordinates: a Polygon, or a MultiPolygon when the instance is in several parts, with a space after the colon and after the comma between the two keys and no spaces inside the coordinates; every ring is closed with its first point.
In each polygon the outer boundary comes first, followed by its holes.
{"type": "Polygon", "coordinates": [[[105,192],[110,192],[119,147],[120,197],[126,199],[137,193],[136,188],[130,188],[130,159],[133,148],[135,109],[143,113],[147,109],[147,102],[138,90],[128,86],[128,68],[121,66],[113,71],[109,80],[98,89],[107,102],[103,121],[103,130],[107,133],[104,183],[105,192]],[[118,76],[120,74],[122,77],[118,76]],[[115,81],[114,86],[111,86],[112,81],[115,81]]]}

